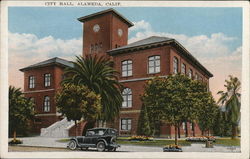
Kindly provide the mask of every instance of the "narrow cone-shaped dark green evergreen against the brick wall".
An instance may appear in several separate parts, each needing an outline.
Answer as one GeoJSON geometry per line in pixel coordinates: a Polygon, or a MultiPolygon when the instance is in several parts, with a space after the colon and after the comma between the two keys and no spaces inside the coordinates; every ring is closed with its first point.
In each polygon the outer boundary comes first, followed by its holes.
{"type": "Polygon", "coordinates": [[[142,105],[139,121],[138,121],[138,128],[137,128],[137,134],[138,135],[145,135],[145,136],[151,136],[151,130],[149,125],[149,119],[148,119],[148,112],[147,107],[142,105]]]}

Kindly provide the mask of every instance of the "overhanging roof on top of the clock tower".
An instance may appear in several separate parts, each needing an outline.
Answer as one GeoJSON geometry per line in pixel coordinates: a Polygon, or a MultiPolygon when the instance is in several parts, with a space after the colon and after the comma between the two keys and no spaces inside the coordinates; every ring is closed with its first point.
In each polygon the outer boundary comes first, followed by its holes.
{"type": "Polygon", "coordinates": [[[86,16],[80,17],[80,18],[78,18],[78,20],[80,22],[85,22],[85,21],[88,21],[88,20],[90,20],[92,18],[95,18],[95,17],[103,15],[103,14],[107,14],[107,13],[113,13],[113,14],[115,14],[116,16],[118,16],[118,18],[120,18],[122,21],[124,21],[125,23],[127,23],[127,25],[129,27],[134,26],[134,24],[131,21],[129,21],[127,18],[125,18],[123,15],[121,15],[119,12],[117,12],[113,8],[110,8],[110,9],[107,9],[107,10],[103,10],[103,11],[100,11],[100,12],[96,12],[96,13],[93,13],[93,14],[90,14],[90,15],[86,15],[86,16]]]}

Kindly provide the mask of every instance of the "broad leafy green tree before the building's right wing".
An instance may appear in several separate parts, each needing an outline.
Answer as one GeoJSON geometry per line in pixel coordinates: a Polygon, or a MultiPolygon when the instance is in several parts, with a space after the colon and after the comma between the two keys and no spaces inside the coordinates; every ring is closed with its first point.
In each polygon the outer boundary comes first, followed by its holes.
{"type": "MultiPolygon", "coordinates": [[[[177,132],[182,122],[197,122],[200,111],[212,116],[211,108],[215,108],[215,102],[206,84],[191,80],[185,75],[170,75],[167,78],[156,77],[149,80],[145,86],[142,101],[147,107],[151,128],[154,121],[163,120],[175,127],[175,144],[178,144],[177,132]],[[203,110],[203,108],[206,108],[203,110]]],[[[203,113],[202,112],[202,113],[203,113]]],[[[211,128],[213,120],[204,117],[203,121],[209,122],[207,128],[211,128]]]]}

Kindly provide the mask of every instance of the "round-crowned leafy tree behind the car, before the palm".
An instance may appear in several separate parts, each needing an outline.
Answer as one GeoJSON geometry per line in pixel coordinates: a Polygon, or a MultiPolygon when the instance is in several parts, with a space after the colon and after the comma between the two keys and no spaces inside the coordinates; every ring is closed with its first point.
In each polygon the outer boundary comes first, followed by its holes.
{"type": "MultiPolygon", "coordinates": [[[[67,117],[67,120],[77,121],[83,118],[86,121],[95,121],[100,114],[101,98],[83,85],[64,84],[56,94],[56,104],[59,112],[67,117]]],[[[75,131],[76,133],[76,131],[75,131]]]]}

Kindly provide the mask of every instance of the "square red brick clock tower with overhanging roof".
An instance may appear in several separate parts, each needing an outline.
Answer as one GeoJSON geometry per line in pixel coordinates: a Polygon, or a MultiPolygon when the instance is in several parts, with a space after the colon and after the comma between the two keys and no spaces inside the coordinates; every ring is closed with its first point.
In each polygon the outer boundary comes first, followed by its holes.
{"type": "Polygon", "coordinates": [[[83,56],[106,55],[106,51],[127,45],[128,28],[133,23],[114,9],[78,18],[83,22],[83,56]]]}

